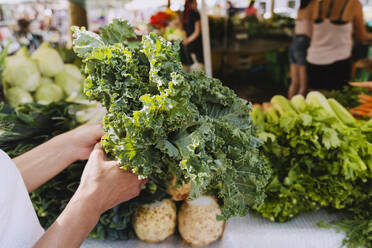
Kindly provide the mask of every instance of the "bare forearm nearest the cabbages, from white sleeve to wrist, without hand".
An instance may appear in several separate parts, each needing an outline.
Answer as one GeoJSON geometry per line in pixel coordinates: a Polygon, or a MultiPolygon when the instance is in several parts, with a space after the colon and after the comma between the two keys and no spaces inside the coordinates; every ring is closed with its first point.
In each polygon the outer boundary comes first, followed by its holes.
{"type": "Polygon", "coordinates": [[[28,192],[32,192],[76,160],[66,134],[56,136],[13,159],[28,192]]]}

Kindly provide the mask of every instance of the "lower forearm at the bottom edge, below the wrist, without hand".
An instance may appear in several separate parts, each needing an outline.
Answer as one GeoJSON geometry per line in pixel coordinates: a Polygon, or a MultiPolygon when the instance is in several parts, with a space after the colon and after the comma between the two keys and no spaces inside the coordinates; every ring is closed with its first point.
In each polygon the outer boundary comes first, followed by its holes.
{"type": "Polygon", "coordinates": [[[34,248],[80,247],[100,216],[89,198],[77,192],[34,248]]]}

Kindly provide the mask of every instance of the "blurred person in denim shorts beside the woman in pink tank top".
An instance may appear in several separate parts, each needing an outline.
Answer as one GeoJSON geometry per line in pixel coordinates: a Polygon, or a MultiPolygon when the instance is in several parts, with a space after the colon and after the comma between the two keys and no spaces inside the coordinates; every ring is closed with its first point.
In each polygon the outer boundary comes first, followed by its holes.
{"type": "Polygon", "coordinates": [[[288,98],[298,94],[304,95],[307,90],[306,55],[313,28],[312,12],[306,11],[310,2],[311,0],[301,0],[295,24],[295,37],[289,48],[291,85],[288,98]]]}

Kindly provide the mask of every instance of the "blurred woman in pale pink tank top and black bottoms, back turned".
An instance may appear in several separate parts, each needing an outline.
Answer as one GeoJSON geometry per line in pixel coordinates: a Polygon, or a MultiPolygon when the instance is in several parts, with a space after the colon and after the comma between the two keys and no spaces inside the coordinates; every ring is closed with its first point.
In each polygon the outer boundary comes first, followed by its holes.
{"type": "MultiPolygon", "coordinates": [[[[313,33],[307,54],[309,88],[342,89],[351,79],[353,33],[372,40],[359,0],[312,0],[313,33]]],[[[310,11],[311,8],[309,8],[310,11]]]]}

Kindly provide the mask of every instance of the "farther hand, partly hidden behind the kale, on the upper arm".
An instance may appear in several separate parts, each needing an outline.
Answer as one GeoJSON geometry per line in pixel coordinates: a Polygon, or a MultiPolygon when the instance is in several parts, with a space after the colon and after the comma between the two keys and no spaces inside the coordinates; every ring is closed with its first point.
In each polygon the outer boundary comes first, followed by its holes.
{"type": "Polygon", "coordinates": [[[87,160],[103,134],[101,124],[86,124],[62,134],[60,138],[71,149],[74,160],[87,160]]]}

